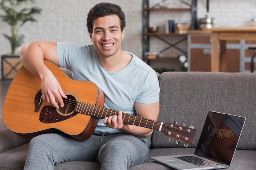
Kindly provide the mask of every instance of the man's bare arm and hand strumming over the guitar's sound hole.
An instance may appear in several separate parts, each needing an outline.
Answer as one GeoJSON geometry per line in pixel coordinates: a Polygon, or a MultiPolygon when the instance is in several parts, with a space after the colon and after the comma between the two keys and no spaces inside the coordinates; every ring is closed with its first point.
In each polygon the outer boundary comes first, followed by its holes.
{"type": "Polygon", "coordinates": [[[34,76],[42,81],[42,98],[52,107],[59,109],[64,106],[62,98],[67,98],[56,77],[44,64],[44,60],[51,61],[60,66],[58,61],[57,43],[38,41],[24,44],[19,49],[20,61],[23,66],[34,76]]]}

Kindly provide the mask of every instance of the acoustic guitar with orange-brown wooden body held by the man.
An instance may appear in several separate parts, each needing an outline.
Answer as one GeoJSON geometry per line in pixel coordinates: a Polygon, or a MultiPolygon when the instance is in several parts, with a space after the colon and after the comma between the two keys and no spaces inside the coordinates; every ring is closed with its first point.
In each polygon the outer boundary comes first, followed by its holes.
{"type": "MultiPolygon", "coordinates": [[[[104,108],[103,92],[90,81],[74,81],[49,61],[45,65],[53,72],[67,99],[56,109],[42,100],[41,81],[21,67],[16,73],[2,109],[4,124],[25,139],[43,133],[64,133],[83,141],[94,132],[99,118],[114,116],[118,111],[104,108]]],[[[163,132],[170,138],[193,144],[196,130],[175,123],[163,123],[123,113],[123,122],[163,132]]],[[[178,143],[177,141],[177,143],[178,143]]]]}

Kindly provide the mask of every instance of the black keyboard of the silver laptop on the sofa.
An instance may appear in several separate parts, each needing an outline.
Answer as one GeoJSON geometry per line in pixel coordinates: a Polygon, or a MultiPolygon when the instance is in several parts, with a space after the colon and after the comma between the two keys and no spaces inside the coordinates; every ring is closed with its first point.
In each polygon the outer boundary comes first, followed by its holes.
{"type": "Polygon", "coordinates": [[[177,159],[181,159],[182,161],[186,161],[189,163],[192,163],[197,166],[210,166],[210,165],[217,165],[214,162],[211,161],[206,161],[204,159],[194,157],[194,156],[182,156],[182,157],[175,157],[177,159]]]}

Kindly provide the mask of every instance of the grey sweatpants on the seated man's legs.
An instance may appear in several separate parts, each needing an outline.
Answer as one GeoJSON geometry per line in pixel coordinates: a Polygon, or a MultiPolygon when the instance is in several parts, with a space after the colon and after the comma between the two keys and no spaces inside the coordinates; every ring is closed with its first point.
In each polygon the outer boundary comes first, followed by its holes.
{"type": "Polygon", "coordinates": [[[148,159],[148,140],[126,134],[92,135],[83,142],[62,134],[31,139],[24,170],[54,170],[67,161],[101,163],[101,170],[127,170],[148,159]]]}

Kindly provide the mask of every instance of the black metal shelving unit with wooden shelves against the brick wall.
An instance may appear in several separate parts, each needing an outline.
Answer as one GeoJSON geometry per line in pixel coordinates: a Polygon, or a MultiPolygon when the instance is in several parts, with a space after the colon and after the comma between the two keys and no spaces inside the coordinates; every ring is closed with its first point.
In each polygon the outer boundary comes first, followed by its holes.
{"type": "MultiPolygon", "coordinates": [[[[159,3],[165,2],[167,0],[162,0],[159,3]]],[[[183,0],[170,0],[170,1],[180,1],[183,4],[186,4],[187,7],[185,8],[167,8],[167,7],[159,7],[159,3],[154,4],[152,6],[149,5],[150,0],[143,0],[142,3],[142,58],[144,61],[146,61],[148,64],[150,64],[150,61],[178,61],[177,57],[171,56],[171,54],[168,54],[166,57],[161,56],[159,58],[155,59],[149,59],[148,54],[152,51],[152,48],[150,49],[150,43],[152,41],[160,40],[162,43],[164,43],[166,46],[162,46],[162,49],[157,49],[158,54],[164,54],[167,50],[171,48],[175,48],[175,50],[181,52],[184,55],[187,55],[186,50],[180,48],[178,45],[182,42],[187,40],[187,35],[180,35],[177,33],[165,33],[165,31],[159,31],[156,33],[149,33],[148,29],[150,28],[150,13],[155,13],[157,11],[163,11],[163,12],[172,12],[172,11],[186,11],[191,14],[191,29],[196,28],[196,22],[197,22],[197,0],[191,0],[191,4],[188,4],[187,2],[183,0]],[[175,37],[175,42],[170,42],[168,40],[173,39],[175,37]]],[[[161,18],[161,21],[165,22],[169,20],[170,18],[161,18]]]]}

